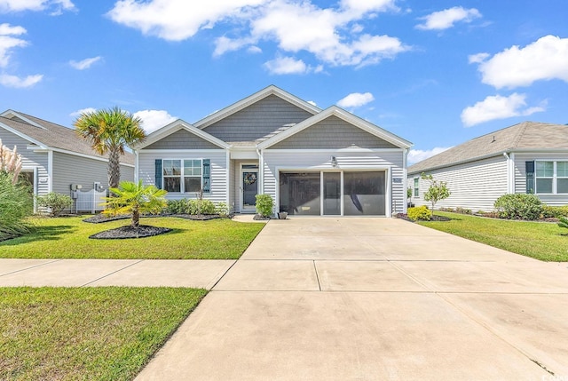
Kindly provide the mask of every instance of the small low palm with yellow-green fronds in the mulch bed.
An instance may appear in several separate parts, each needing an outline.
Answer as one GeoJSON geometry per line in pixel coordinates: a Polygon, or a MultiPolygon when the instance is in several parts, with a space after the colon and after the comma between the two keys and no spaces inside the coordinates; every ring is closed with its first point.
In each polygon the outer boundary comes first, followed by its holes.
{"type": "Polygon", "coordinates": [[[166,206],[167,191],[154,186],[144,187],[142,180],[137,183],[122,181],[117,188],[110,191],[115,197],[106,197],[104,214],[132,214],[130,226],[140,226],[140,213],[160,213],[166,206]]]}

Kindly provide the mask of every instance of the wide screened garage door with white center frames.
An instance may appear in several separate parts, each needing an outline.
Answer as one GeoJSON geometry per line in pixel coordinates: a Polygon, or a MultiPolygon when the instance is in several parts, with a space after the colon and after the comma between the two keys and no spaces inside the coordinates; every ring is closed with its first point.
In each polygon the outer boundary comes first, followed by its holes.
{"type": "Polygon", "coordinates": [[[281,171],[280,211],[291,216],[384,216],[386,171],[281,171]]]}

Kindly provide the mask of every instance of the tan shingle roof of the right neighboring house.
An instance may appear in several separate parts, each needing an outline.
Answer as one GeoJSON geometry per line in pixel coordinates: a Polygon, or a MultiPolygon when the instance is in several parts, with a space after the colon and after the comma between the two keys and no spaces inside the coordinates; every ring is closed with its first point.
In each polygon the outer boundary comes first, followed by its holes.
{"type": "Polygon", "coordinates": [[[408,167],[408,173],[468,163],[512,151],[568,151],[568,125],[523,122],[494,131],[408,167]]]}

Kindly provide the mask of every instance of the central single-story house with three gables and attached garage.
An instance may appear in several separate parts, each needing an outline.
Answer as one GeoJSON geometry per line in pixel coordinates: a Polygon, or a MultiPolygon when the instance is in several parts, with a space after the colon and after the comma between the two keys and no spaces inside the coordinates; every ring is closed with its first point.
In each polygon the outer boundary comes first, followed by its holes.
{"type": "Polygon", "coordinates": [[[269,86],[191,124],[162,127],[135,147],[138,179],[170,199],[203,197],[255,212],[391,216],[406,210],[411,143],[339,108],[269,86]]]}

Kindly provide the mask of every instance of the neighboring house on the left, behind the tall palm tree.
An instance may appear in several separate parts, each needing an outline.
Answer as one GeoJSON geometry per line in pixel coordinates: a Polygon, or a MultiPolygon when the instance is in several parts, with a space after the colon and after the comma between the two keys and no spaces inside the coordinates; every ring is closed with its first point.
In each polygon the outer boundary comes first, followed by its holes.
{"type": "MultiPolygon", "coordinates": [[[[108,188],[108,159],[94,152],[75,130],[7,110],[0,114],[0,139],[4,146],[18,148],[22,175],[35,195],[56,192],[75,196],[72,187],[77,185],[83,192],[95,185],[99,190],[108,188]]],[[[134,155],[123,155],[121,161],[121,179],[132,181],[134,155]]]]}

